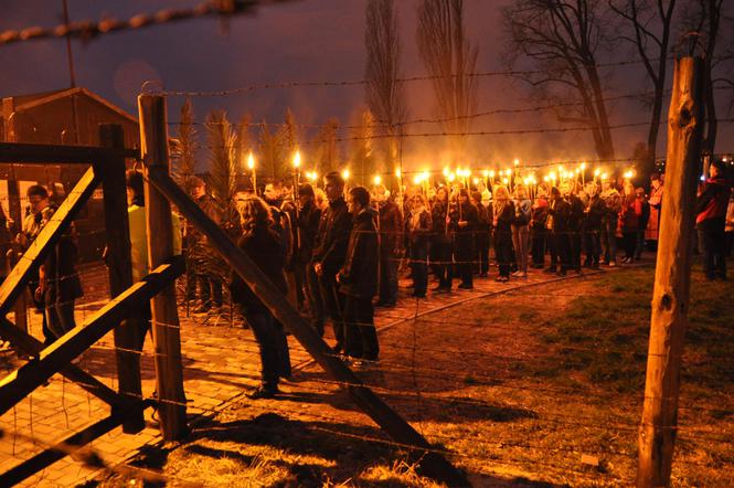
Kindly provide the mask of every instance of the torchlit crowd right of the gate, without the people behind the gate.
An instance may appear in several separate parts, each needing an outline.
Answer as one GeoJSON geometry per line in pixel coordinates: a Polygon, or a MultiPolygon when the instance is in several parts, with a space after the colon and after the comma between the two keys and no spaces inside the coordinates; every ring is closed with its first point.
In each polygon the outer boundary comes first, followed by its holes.
{"type": "MultiPolygon", "coordinates": [[[[724,243],[734,230],[724,170],[720,161],[712,165],[696,204],[700,251],[711,279],[725,279],[724,256],[731,250],[724,243]]],[[[619,185],[611,180],[540,184],[533,198],[522,183],[490,191],[482,182],[415,185],[391,195],[381,184],[348,188],[340,173],[331,172],[323,191],[305,183],[296,198],[292,188],[277,181],[267,184],[262,199],[252,188],[240,188],[234,198],[240,222],[223,225],[236,227],[240,247],[319,335],[331,322],[334,354],[363,368],[379,360],[374,307],[396,305],[401,274],[409,275],[412,296],[419,299],[429,291],[430,275],[430,291],[443,294],[457,282],[457,288],[471,289],[494,267],[493,279],[506,283],[526,278],[529,268],[563,276],[631,264],[655,250],[663,188],[663,177],[656,173],[649,197],[628,179],[619,185]]],[[[231,283],[263,353],[263,383],[254,395],[270,397],[278,392],[278,378],[290,371],[285,332],[236,275],[231,283]]]]}

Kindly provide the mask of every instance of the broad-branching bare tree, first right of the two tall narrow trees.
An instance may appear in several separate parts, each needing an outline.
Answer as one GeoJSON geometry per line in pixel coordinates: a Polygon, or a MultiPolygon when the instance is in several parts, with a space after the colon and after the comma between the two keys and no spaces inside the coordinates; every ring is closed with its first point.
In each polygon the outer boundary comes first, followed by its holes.
{"type": "Polygon", "coordinates": [[[614,141],[597,55],[611,47],[602,0],[515,0],[504,8],[506,62],[531,66],[518,75],[532,95],[550,104],[577,103],[556,113],[563,123],[587,126],[602,159],[614,159],[614,141]]]}

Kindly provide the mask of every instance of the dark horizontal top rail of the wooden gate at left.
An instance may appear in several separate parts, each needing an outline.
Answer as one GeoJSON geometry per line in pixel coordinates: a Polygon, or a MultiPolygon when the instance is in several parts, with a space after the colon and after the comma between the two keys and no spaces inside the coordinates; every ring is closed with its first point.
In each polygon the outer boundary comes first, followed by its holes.
{"type": "Polygon", "coordinates": [[[124,152],[119,148],[0,142],[0,162],[92,165],[121,156],[124,152]]]}

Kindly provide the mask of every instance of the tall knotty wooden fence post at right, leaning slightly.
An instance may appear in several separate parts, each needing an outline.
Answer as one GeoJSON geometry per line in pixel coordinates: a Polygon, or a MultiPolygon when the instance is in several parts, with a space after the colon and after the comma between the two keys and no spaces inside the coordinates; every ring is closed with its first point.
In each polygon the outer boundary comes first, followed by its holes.
{"type": "Polygon", "coordinates": [[[676,62],[645,406],[638,438],[639,488],[670,484],[688,322],[696,180],[701,167],[702,82],[701,59],[683,57],[676,62]]]}

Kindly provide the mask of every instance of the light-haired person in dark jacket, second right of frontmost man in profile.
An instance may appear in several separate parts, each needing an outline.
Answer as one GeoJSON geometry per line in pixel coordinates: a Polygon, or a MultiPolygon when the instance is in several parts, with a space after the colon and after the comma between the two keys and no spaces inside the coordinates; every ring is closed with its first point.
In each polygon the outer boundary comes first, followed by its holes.
{"type": "Polygon", "coordinates": [[[413,296],[425,298],[428,288],[428,250],[433,222],[426,209],[425,197],[416,193],[411,199],[411,212],[406,220],[407,247],[413,276],[413,296]]]}

